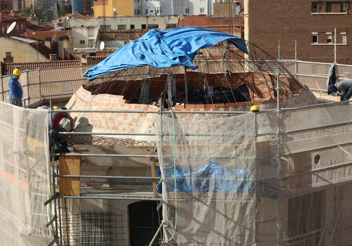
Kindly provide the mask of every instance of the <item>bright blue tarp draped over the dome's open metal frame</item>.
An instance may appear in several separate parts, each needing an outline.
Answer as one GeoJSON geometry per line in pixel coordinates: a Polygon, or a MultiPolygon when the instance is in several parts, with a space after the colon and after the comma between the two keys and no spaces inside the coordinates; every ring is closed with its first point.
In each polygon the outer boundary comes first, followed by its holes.
{"type": "Polygon", "coordinates": [[[83,76],[88,80],[122,69],[140,66],[165,68],[186,66],[195,70],[193,59],[197,50],[230,40],[241,51],[248,53],[245,40],[219,31],[183,27],[171,30],[150,30],[142,37],[125,44],[83,76]]]}

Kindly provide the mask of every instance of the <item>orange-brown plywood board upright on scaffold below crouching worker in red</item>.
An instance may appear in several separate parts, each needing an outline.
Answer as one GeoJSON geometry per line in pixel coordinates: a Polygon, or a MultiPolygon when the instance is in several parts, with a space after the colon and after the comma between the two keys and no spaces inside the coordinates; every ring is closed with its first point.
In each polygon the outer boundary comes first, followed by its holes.
{"type": "MultiPolygon", "coordinates": [[[[61,175],[80,175],[79,156],[60,156],[59,174],[61,175]]],[[[60,195],[80,195],[80,178],[59,178],[60,195]]]]}

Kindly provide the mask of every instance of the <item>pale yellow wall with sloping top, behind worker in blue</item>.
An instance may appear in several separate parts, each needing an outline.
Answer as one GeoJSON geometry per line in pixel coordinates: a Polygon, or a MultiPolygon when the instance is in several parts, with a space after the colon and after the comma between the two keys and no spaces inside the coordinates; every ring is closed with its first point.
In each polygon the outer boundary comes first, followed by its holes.
{"type": "MultiPolygon", "coordinates": [[[[15,39],[7,39],[0,37],[0,54],[11,51],[13,62],[37,62],[37,50],[32,46],[15,39]]],[[[46,62],[48,58],[43,56],[40,52],[39,62],[46,62]]]]}

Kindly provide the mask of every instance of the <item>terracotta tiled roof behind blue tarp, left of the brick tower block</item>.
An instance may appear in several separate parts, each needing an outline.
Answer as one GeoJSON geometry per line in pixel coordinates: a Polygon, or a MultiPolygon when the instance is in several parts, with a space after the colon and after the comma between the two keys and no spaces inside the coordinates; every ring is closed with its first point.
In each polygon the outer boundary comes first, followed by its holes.
{"type": "MultiPolygon", "coordinates": [[[[213,17],[212,15],[206,16],[184,16],[178,19],[177,27],[194,26],[194,27],[219,27],[231,26],[231,17],[213,17]]],[[[234,26],[244,26],[243,16],[233,17],[234,26]]]]}

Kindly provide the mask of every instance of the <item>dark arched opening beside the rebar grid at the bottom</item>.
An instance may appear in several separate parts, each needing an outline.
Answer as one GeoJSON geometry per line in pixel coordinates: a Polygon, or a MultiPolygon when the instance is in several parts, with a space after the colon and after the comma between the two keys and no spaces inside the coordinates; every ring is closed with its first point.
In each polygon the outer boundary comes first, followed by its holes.
{"type": "MultiPolygon", "coordinates": [[[[128,205],[130,219],[130,246],[149,245],[159,228],[159,216],[156,210],[156,201],[140,201],[128,205]]],[[[162,207],[159,210],[160,221],[162,220],[162,207]]],[[[160,233],[153,245],[160,246],[160,233]]]]}

